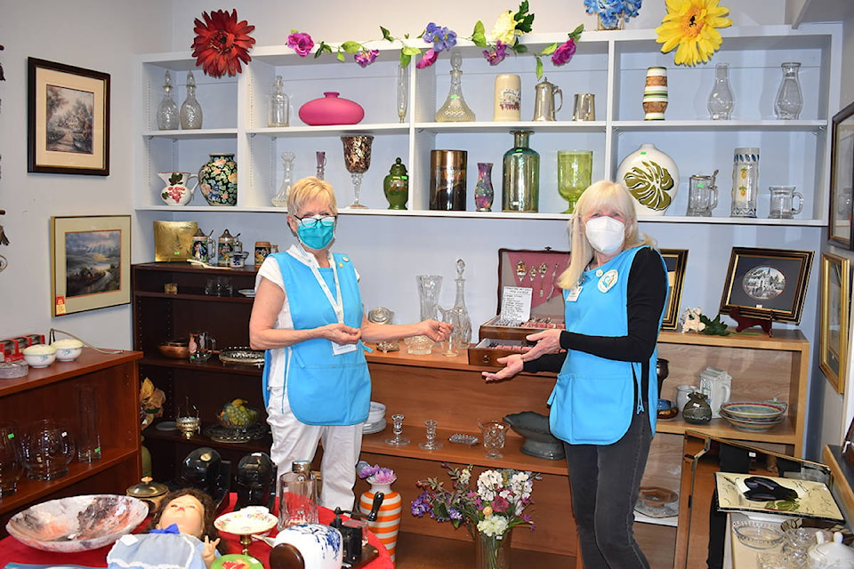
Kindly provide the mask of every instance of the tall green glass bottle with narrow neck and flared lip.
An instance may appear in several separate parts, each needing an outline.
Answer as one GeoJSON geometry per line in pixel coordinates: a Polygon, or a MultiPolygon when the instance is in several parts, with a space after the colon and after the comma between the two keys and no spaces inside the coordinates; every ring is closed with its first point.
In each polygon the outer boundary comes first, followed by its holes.
{"type": "Polygon", "coordinates": [[[528,148],[532,131],[511,131],[513,148],[504,153],[504,212],[536,212],[540,202],[540,155],[528,148]]]}

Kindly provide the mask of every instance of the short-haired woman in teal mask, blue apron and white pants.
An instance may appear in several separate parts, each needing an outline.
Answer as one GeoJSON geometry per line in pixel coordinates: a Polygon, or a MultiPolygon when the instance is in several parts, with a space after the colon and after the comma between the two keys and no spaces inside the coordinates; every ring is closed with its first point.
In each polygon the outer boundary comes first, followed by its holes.
{"type": "Polygon", "coordinates": [[[371,400],[362,341],[417,334],[441,341],[450,325],[367,321],[350,257],[330,252],[338,209],[328,182],[298,180],[288,194],[287,211],[298,243],[262,263],[249,321],[250,345],[266,350],[270,455],[278,472],[286,472],[292,461],[312,460],[323,441],[320,503],[352,509],[362,426],[371,400]]]}

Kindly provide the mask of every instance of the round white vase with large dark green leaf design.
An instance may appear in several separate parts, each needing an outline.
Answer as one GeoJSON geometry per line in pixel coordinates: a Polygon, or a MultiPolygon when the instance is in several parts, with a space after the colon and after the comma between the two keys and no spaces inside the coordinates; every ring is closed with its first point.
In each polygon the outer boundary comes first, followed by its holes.
{"type": "Polygon", "coordinates": [[[654,144],[641,144],[620,163],[616,181],[634,197],[637,215],[664,215],[679,190],[679,170],[654,144]]]}

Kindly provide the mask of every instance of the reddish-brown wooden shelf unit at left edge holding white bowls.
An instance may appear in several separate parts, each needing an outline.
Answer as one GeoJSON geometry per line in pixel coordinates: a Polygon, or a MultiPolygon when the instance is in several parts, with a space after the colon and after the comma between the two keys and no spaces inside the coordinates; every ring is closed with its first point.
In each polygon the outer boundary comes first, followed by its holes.
{"type": "Polygon", "coordinates": [[[94,387],[101,435],[101,460],[72,461],[68,475],[55,480],[30,480],[26,475],[18,491],[0,498],[0,537],[6,522],[33,503],[86,493],[124,494],[139,482],[140,381],[139,352],[103,354],[85,348],[74,362],[56,362],[43,369],[30,368],[26,377],[0,382],[3,421],[19,428],[28,421],[51,418],[77,432],[77,390],[94,387]]]}

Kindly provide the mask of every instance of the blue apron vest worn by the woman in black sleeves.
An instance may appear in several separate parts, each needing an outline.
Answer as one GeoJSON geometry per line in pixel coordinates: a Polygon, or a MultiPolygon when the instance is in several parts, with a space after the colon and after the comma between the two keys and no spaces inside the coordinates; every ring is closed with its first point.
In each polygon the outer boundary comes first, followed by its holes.
{"type": "MultiPolygon", "coordinates": [[[[568,301],[569,291],[564,291],[569,332],[591,336],[624,336],[628,333],[625,307],[629,271],[634,256],[640,250],[641,247],[628,249],[604,265],[585,271],[576,301],[568,301]]],[[[660,320],[661,317],[659,327],[660,320]]],[[[656,432],[658,401],[654,374],[656,360],[657,350],[653,350],[649,358],[652,377],[647,392],[651,407],[648,410],[649,423],[653,433],[656,432]]],[[[643,397],[640,395],[640,362],[621,362],[570,350],[549,398],[552,434],[573,445],[615,443],[629,429],[632,415],[643,410],[643,397]]]]}

